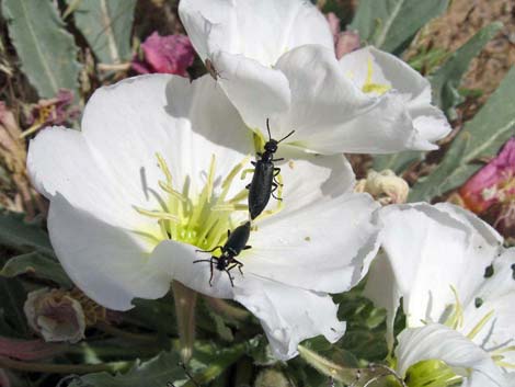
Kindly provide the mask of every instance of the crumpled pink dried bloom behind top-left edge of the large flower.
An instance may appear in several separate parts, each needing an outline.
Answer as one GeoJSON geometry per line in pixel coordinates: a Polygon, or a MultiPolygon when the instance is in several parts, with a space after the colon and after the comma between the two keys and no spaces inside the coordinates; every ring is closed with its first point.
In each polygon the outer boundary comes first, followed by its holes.
{"type": "Polygon", "coordinates": [[[187,77],[186,69],[193,65],[195,50],[186,35],[160,36],[152,33],[141,44],[144,59],[135,57],[133,69],[139,73],[174,73],[187,77]]]}

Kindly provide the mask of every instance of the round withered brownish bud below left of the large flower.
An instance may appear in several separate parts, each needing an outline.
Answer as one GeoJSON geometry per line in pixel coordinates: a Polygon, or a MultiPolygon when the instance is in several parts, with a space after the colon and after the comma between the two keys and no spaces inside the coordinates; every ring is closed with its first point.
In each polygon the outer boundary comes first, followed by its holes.
{"type": "Polygon", "coordinates": [[[30,327],[45,341],[76,343],[84,338],[82,306],[66,292],[48,288],[31,292],[23,310],[30,327]]]}

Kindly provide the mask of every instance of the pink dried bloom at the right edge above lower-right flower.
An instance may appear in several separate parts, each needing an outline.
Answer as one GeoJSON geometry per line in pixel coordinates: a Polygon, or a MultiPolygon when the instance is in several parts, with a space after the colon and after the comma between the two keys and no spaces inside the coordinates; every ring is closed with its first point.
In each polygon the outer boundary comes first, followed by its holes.
{"type": "Polygon", "coordinates": [[[515,137],[459,189],[459,195],[465,206],[476,214],[484,213],[494,204],[515,201],[515,137]]]}

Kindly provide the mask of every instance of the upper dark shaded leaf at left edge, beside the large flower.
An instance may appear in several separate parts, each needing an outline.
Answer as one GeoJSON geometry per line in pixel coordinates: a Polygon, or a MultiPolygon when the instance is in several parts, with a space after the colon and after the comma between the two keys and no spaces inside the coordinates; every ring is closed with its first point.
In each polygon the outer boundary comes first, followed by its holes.
{"type": "Polygon", "coordinates": [[[27,223],[23,214],[0,213],[0,244],[20,251],[38,250],[54,255],[48,235],[36,223],[27,223]]]}

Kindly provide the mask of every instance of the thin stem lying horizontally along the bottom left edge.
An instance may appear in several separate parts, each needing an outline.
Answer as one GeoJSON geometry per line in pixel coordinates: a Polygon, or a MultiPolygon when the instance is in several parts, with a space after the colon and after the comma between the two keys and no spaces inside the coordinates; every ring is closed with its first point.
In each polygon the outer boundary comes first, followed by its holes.
{"type": "Polygon", "coordinates": [[[18,369],[32,373],[48,374],[89,374],[98,372],[115,373],[128,369],[133,362],[114,362],[100,364],[52,364],[21,362],[8,357],[0,357],[0,368],[18,369]]]}

